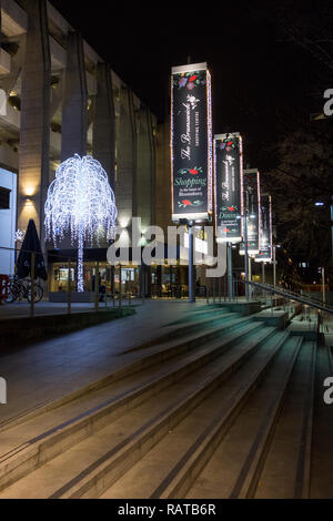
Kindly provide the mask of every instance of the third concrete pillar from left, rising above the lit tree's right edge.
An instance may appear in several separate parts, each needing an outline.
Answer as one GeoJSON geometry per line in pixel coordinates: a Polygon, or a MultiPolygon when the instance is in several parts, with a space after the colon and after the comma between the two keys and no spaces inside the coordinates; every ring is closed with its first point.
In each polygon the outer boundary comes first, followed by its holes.
{"type": "Polygon", "coordinates": [[[111,69],[98,63],[98,92],[94,101],[92,133],[93,156],[102,164],[114,190],[115,115],[111,69]]]}

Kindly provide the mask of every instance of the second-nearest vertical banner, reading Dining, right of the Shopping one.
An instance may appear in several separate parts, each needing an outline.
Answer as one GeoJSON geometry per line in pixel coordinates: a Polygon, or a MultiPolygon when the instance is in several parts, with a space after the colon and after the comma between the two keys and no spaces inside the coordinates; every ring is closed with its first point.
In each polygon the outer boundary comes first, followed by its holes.
{"type": "Polygon", "coordinates": [[[242,241],[242,137],[239,132],[214,136],[216,242],[242,241]]]}

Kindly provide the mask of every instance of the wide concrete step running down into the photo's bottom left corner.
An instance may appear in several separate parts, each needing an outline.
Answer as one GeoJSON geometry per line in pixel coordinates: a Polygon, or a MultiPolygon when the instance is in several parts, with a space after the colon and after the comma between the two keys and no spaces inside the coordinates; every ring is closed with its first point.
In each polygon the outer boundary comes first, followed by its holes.
{"type": "Polygon", "coordinates": [[[34,497],[37,490],[38,497],[99,496],[253,355],[272,333],[272,328],[263,328],[261,335],[239,343],[13,483],[0,497],[34,497]]]}

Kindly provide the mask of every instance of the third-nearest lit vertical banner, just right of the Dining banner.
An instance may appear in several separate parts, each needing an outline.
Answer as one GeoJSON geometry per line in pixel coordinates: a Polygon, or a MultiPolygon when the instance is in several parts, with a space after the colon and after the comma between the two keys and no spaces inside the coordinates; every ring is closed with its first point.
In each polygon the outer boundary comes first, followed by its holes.
{"type": "MultiPolygon", "coordinates": [[[[248,214],[248,254],[258,255],[261,231],[260,174],[258,168],[243,171],[242,215],[245,212],[248,214]]],[[[244,223],[242,223],[242,232],[244,235],[244,223]]],[[[240,244],[240,254],[244,255],[244,243],[240,244]]]]}

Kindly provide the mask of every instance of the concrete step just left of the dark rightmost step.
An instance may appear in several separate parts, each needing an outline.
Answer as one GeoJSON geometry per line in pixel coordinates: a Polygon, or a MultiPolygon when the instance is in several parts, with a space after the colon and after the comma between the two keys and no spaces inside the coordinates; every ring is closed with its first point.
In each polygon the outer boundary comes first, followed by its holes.
{"type": "Polygon", "coordinates": [[[301,346],[302,337],[286,340],[220,445],[214,451],[210,448],[212,457],[190,486],[186,498],[253,496],[301,346]]]}

